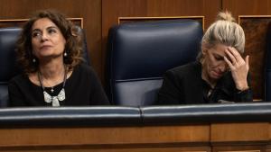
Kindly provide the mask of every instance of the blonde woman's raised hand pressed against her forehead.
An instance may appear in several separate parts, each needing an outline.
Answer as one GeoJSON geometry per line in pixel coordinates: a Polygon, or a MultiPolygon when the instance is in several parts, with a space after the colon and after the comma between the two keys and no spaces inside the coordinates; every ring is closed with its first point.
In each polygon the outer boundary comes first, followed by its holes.
{"type": "Polygon", "coordinates": [[[231,71],[231,76],[235,82],[236,88],[240,91],[248,89],[248,58],[246,57],[244,60],[241,55],[238,53],[237,49],[228,47],[225,50],[226,54],[229,58],[224,57],[224,60],[229,65],[229,69],[231,71]]]}

